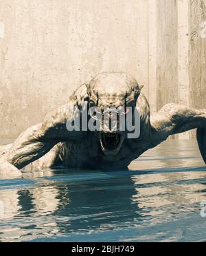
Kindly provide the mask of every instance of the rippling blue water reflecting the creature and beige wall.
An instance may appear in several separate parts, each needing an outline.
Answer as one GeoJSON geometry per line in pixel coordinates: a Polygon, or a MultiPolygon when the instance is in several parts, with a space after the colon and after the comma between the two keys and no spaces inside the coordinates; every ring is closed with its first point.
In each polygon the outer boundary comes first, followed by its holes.
{"type": "Polygon", "coordinates": [[[0,180],[1,242],[206,240],[206,167],[195,141],[165,142],[130,171],[23,175],[0,180]]]}

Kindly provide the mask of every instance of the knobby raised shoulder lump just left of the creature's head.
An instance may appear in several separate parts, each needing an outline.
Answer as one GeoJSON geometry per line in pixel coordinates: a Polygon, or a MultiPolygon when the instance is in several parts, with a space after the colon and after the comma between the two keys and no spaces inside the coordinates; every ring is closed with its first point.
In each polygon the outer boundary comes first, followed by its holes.
{"type": "Polygon", "coordinates": [[[80,85],[72,94],[69,96],[69,100],[73,102],[73,105],[80,106],[82,101],[88,100],[89,95],[87,92],[87,84],[80,85]]]}

